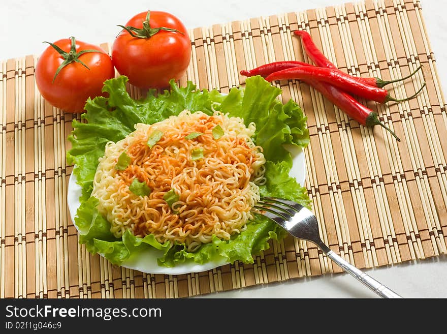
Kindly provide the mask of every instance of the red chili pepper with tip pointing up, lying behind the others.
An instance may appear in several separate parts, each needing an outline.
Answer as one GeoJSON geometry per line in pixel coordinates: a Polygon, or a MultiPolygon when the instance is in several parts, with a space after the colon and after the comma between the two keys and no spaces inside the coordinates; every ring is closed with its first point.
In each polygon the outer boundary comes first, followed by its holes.
{"type": "MultiPolygon", "coordinates": [[[[323,52],[320,51],[320,49],[318,49],[316,47],[315,43],[313,43],[313,41],[312,41],[312,37],[309,35],[308,32],[306,32],[304,30],[296,30],[296,31],[294,31],[294,34],[301,37],[301,39],[303,40],[304,50],[306,51],[309,58],[312,59],[312,61],[317,66],[333,69],[333,70],[343,73],[334,64],[332,64],[328,58],[326,58],[326,56],[323,54],[323,52]]],[[[419,66],[410,75],[407,75],[404,78],[400,78],[400,79],[396,79],[396,80],[388,80],[387,81],[387,80],[382,80],[380,78],[360,78],[360,77],[353,77],[353,78],[356,78],[356,80],[358,80],[364,84],[382,88],[382,87],[386,86],[387,84],[408,79],[409,77],[413,76],[414,73],[418,72],[421,68],[422,68],[422,65],[419,66]]]]}

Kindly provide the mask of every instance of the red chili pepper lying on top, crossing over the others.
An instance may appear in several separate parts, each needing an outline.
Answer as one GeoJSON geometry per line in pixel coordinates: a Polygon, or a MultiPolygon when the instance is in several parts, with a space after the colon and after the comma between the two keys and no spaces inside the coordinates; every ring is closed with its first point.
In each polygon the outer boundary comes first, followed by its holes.
{"type": "Polygon", "coordinates": [[[410,96],[409,98],[398,100],[390,96],[387,89],[373,87],[339,70],[329,68],[315,67],[315,66],[294,67],[274,72],[269,76],[267,76],[266,78],[267,81],[287,80],[287,79],[298,79],[302,81],[316,80],[316,81],[327,82],[333,86],[336,86],[344,90],[347,93],[357,95],[367,100],[376,101],[378,103],[387,103],[388,101],[402,102],[410,100],[416,97],[425,86],[424,82],[421,89],[419,89],[418,92],[416,92],[416,94],[410,96]]]}

